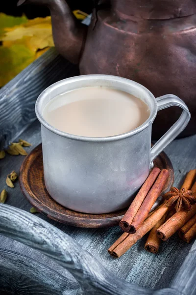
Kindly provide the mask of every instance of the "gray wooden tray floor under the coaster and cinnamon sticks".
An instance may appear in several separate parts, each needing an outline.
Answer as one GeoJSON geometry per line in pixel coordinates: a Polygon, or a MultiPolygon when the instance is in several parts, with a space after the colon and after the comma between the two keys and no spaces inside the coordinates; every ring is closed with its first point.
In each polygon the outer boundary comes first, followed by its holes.
{"type": "MultiPolygon", "coordinates": [[[[28,151],[40,144],[41,134],[39,122],[35,121],[32,123],[20,138],[33,144],[32,147],[26,148],[28,151]]],[[[174,185],[180,186],[186,172],[196,168],[196,136],[175,140],[165,151],[173,164],[175,172],[174,185]]],[[[6,187],[5,184],[6,175],[12,170],[19,172],[23,160],[23,156],[10,156],[7,154],[3,160],[0,160],[0,190],[6,188],[8,192],[6,204],[29,211],[31,205],[21,193],[19,182],[16,182],[14,189],[6,187]]],[[[174,275],[182,265],[193,244],[186,244],[178,236],[173,236],[167,242],[163,242],[160,252],[154,255],[144,250],[146,240],[146,237],[144,237],[120,259],[113,259],[107,253],[107,248],[122,234],[119,227],[81,229],[52,221],[41,213],[38,213],[37,216],[73,237],[77,243],[89,251],[103,266],[119,278],[140,287],[150,289],[167,288],[170,286],[174,275]]],[[[64,268],[44,254],[10,238],[0,236],[0,248],[25,254],[50,266],[50,268],[55,269],[62,275],[68,276],[68,278],[70,277],[70,279],[72,277],[64,268]]]]}

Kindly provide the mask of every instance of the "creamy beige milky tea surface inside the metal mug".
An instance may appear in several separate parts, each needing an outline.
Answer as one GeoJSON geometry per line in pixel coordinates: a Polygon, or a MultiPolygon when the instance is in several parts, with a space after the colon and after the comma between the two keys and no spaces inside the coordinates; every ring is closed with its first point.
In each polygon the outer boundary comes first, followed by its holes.
{"type": "Polygon", "coordinates": [[[56,129],[88,137],[114,136],[142,125],[146,103],[121,90],[102,86],[74,89],[53,98],[43,117],[56,129]]]}

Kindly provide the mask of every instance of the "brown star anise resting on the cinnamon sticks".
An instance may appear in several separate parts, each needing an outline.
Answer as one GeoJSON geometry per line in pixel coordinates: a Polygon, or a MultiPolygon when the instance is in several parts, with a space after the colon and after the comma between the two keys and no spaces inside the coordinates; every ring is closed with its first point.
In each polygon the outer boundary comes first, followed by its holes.
{"type": "Polygon", "coordinates": [[[164,195],[164,199],[168,200],[165,204],[167,207],[174,207],[176,212],[184,208],[187,211],[191,211],[191,205],[196,203],[196,197],[193,196],[191,190],[185,191],[184,188],[180,190],[176,187],[172,187],[171,191],[164,195]]]}

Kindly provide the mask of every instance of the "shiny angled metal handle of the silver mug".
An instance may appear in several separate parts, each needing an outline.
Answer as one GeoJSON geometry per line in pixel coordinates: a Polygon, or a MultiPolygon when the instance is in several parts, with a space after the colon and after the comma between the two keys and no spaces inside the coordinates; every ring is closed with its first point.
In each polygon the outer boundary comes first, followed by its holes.
{"type": "Polygon", "coordinates": [[[158,111],[177,106],[183,109],[180,118],[172,125],[172,127],[156,142],[150,149],[150,163],[166,148],[186,127],[191,114],[188,107],[178,96],[166,94],[156,98],[158,111]]]}

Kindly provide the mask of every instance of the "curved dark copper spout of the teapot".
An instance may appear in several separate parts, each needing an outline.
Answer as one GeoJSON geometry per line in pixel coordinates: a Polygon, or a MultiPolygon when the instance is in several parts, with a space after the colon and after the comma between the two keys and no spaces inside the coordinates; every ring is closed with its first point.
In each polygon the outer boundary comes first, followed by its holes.
{"type": "Polygon", "coordinates": [[[79,63],[86,38],[87,27],[77,22],[65,0],[19,0],[22,4],[38,4],[49,7],[52,35],[57,51],[73,63],[79,63]]]}

